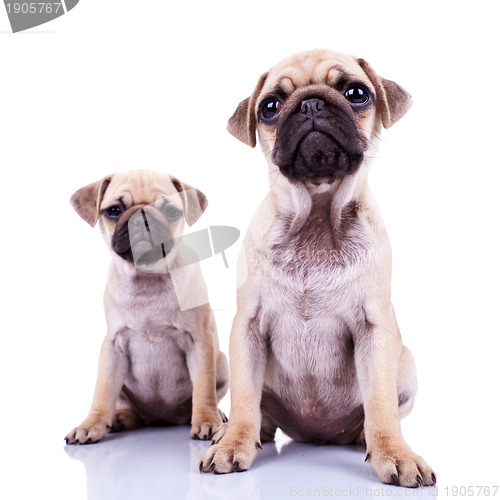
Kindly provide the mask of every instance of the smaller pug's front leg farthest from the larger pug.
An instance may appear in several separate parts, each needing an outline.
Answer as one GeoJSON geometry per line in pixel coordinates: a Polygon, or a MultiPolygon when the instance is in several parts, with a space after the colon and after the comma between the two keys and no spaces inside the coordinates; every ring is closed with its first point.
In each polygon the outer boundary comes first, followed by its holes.
{"type": "Polygon", "coordinates": [[[67,436],[68,444],[97,443],[111,430],[115,403],[129,368],[127,356],[110,334],[99,356],[94,400],[85,420],[67,436]]]}

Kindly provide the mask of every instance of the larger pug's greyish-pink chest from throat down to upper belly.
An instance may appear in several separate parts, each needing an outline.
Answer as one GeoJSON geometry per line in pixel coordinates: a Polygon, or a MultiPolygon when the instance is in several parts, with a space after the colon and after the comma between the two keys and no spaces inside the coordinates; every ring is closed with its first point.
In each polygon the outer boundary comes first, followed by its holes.
{"type": "Polygon", "coordinates": [[[352,354],[346,347],[349,325],[362,314],[368,248],[357,207],[346,207],[341,227],[333,231],[325,203],[313,206],[297,234],[271,247],[262,318],[273,354],[286,370],[321,378],[345,371],[352,354]]]}

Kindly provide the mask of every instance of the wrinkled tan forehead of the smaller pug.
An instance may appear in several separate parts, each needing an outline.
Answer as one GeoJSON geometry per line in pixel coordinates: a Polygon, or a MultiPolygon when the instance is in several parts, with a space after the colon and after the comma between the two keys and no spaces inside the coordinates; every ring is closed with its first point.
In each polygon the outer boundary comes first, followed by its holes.
{"type": "Polygon", "coordinates": [[[175,205],[182,205],[181,197],[168,175],[146,170],[126,172],[113,176],[102,206],[120,200],[129,207],[139,203],[154,203],[164,198],[175,205]]]}

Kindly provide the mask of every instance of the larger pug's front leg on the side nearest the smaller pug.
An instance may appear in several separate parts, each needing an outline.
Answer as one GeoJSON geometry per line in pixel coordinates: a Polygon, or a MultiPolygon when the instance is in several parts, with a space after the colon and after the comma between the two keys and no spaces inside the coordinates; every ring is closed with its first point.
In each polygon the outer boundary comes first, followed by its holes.
{"type": "MultiPolygon", "coordinates": [[[[231,414],[222,437],[200,463],[201,472],[242,472],[252,464],[260,444],[260,400],[266,366],[266,344],[258,330],[258,308],[240,308],[229,346],[231,414]]],[[[220,433],[222,434],[222,433],[220,433]]]]}

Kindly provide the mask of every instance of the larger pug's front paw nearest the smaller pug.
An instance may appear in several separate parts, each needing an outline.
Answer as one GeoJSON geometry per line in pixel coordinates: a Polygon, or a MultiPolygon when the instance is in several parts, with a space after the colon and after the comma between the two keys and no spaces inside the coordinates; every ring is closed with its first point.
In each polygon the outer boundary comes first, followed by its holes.
{"type": "Polygon", "coordinates": [[[200,472],[243,472],[250,468],[259,448],[262,446],[255,439],[234,439],[226,433],[205,453],[200,462],[200,472]]]}

